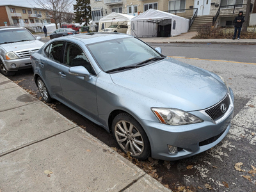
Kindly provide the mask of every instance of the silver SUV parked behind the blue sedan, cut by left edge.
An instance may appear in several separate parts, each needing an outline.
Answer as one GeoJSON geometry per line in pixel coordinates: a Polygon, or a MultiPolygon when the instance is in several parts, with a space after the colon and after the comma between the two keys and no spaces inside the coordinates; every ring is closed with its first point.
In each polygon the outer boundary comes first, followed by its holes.
{"type": "Polygon", "coordinates": [[[30,56],[44,45],[26,28],[0,28],[0,72],[13,76],[19,69],[31,67],[30,56]]]}

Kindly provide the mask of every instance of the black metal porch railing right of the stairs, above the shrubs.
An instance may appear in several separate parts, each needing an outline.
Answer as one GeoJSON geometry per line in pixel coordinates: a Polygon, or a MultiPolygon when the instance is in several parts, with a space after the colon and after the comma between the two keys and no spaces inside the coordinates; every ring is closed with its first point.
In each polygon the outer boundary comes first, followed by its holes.
{"type": "Polygon", "coordinates": [[[246,4],[232,4],[232,5],[220,6],[215,17],[212,18],[212,26],[214,26],[219,15],[234,14],[234,13],[238,14],[240,11],[243,11],[244,13],[246,12],[246,4]]]}

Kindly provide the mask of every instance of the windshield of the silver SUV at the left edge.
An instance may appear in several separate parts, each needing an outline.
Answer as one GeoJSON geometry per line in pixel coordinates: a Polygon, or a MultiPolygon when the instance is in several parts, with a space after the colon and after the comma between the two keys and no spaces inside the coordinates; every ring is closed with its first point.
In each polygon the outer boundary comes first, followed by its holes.
{"type": "Polygon", "coordinates": [[[23,42],[35,40],[35,37],[31,35],[26,29],[6,29],[0,31],[0,44],[8,44],[15,42],[23,42]]]}

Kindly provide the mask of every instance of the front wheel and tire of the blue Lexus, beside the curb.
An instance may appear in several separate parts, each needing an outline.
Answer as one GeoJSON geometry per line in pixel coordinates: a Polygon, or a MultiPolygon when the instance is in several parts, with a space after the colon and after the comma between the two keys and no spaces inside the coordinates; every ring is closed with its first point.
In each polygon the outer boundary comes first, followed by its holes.
{"type": "Polygon", "coordinates": [[[113,136],[119,147],[132,157],[145,160],[150,156],[150,143],[141,125],[129,114],[120,113],[112,124],[113,136]]]}

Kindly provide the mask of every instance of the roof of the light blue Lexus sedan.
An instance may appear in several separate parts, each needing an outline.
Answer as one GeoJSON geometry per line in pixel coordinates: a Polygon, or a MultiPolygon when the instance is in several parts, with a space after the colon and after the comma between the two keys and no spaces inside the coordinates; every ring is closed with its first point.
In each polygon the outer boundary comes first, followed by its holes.
{"type": "MultiPolygon", "coordinates": [[[[106,40],[113,40],[118,38],[132,37],[124,33],[79,33],[78,35],[69,35],[63,38],[80,40],[84,44],[93,44],[97,42],[104,42],[106,40]]],[[[60,39],[60,38],[58,38],[60,39]]]]}

